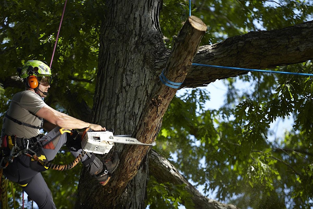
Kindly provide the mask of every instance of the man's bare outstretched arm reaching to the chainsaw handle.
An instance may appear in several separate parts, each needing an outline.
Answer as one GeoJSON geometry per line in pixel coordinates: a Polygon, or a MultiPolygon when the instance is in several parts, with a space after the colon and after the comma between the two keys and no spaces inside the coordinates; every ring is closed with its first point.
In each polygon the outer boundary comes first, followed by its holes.
{"type": "Polygon", "coordinates": [[[44,118],[46,121],[57,125],[62,128],[68,128],[68,129],[73,129],[73,128],[91,128],[94,131],[101,131],[105,130],[105,128],[102,128],[100,125],[97,124],[92,124],[92,123],[86,123],[84,121],[81,121],[77,118],[73,118],[69,115],[66,115],[62,112],[56,111],[55,109],[45,106],[41,108],[36,115],[40,118],[44,118]]]}

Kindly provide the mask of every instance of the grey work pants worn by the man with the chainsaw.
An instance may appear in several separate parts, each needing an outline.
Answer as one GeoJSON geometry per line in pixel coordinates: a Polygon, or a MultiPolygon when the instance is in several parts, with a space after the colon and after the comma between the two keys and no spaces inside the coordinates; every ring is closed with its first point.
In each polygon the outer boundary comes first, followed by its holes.
{"type": "MultiPolygon", "coordinates": [[[[49,161],[54,159],[64,144],[75,157],[82,151],[80,139],[74,140],[69,133],[60,134],[59,129],[60,127],[54,128],[40,139],[41,155],[44,155],[49,161]]],[[[86,154],[83,157],[82,163],[87,167],[91,175],[102,170],[103,167],[102,162],[90,154],[86,154]]],[[[46,170],[44,166],[37,161],[32,161],[26,155],[20,155],[14,158],[13,162],[3,170],[3,174],[9,180],[17,182],[22,186],[29,198],[35,201],[40,209],[55,209],[51,191],[40,173],[44,170],[46,170]]]]}

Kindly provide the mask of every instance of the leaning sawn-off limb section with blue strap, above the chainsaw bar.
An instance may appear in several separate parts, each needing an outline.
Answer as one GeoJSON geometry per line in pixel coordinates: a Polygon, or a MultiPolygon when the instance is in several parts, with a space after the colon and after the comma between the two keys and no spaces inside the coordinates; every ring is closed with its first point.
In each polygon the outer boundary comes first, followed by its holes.
{"type": "MultiPolygon", "coordinates": [[[[167,80],[183,82],[191,69],[193,57],[196,55],[199,43],[207,30],[206,24],[200,18],[190,16],[175,39],[173,49],[168,57],[163,71],[167,80]]],[[[154,87],[150,103],[146,105],[136,128],[136,138],[143,143],[151,143],[162,124],[162,117],[177,89],[166,86],[158,81],[154,87]]]]}

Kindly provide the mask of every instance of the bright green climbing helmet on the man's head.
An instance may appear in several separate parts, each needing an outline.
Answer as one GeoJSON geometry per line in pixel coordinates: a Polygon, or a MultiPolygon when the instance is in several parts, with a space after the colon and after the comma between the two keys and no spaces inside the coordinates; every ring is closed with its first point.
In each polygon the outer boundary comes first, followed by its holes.
{"type": "Polygon", "coordinates": [[[52,80],[50,67],[39,60],[28,60],[21,70],[21,78],[36,76],[39,83],[49,85],[52,80]]]}

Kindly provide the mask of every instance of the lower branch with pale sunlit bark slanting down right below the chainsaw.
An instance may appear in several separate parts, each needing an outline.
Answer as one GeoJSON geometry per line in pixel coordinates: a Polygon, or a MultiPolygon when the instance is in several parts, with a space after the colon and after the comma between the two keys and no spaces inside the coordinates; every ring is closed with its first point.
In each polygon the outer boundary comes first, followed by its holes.
{"type": "MultiPolygon", "coordinates": [[[[167,159],[151,149],[149,154],[149,173],[159,183],[170,182],[174,185],[186,184],[185,190],[191,195],[196,209],[238,209],[234,205],[223,204],[203,196],[167,159]]],[[[184,200],[183,200],[184,201],[184,200]]]]}

